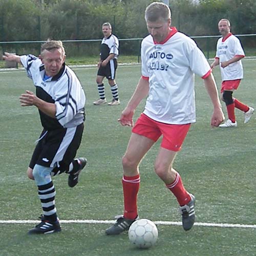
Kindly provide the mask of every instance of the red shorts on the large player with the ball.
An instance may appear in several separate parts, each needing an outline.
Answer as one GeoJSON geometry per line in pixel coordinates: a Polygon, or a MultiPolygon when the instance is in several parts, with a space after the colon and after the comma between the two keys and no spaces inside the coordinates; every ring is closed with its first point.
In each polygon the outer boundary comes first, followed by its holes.
{"type": "Polygon", "coordinates": [[[163,135],[161,147],[166,148],[166,150],[180,151],[189,127],[190,123],[168,124],[157,122],[142,113],[135,123],[132,132],[152,139],[155,142],[163,135]]]}

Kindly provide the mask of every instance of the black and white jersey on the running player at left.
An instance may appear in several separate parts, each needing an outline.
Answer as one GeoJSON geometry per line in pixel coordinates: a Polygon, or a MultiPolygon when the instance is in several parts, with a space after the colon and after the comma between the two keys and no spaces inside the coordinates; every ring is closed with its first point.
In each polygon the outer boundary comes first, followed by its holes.
{"type": "Polygon", "coordinates": [[[47,131],[83,123],[86,96],[76,74],[65,63],[56,76],[45,80],[45,67],[39,58],[31,54],[22,55],[20,61],[33,80],[36,96],[56,105],[56,118],[39,110],[41,124],[47,131]]]}

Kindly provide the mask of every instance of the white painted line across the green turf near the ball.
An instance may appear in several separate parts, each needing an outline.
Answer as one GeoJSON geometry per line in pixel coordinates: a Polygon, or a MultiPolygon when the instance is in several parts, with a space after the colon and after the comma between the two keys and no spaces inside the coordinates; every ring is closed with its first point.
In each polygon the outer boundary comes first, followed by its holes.
{"type": "MultiPolygon", "coordinates": [[[[114,224],[115,221],[108,220],[60,220],[61,223],[79,223],[79,224],[114,224]]],[[[34,220],[0,220],[0,224],[27,224],[38,223],[34,220]]],[[[175,225],[181,226],[180,221],[154,221],[156,225],[175,225]]],[[[229,224],[229,223],[205,223],[196,222],[195,226],[201,227],[234,227],[234,228],[256,228],[256,225],[244,225],[244,224],[229,224]]]]}

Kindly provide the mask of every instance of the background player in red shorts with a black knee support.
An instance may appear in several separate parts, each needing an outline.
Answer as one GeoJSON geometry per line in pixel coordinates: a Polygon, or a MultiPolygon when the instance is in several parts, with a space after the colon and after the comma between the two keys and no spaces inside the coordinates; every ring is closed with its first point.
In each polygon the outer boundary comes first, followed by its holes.
{"type": "Polygon", "coordinates": [[[237,127],[234,109],[244,112],[244,123],[248,123],[254,109],[232,97],[233,91],[237,90],[241,79],[243,79],[243,66],[241,59],[245,57],[240,40],[230,33],[230,22],[228,19],[221,19],[218,23],[222,35],[217,41],[217,51],[211,68],[220,65],[222,86],[221,99],[225,102],[228,119],[219,127],[237,127]]]}

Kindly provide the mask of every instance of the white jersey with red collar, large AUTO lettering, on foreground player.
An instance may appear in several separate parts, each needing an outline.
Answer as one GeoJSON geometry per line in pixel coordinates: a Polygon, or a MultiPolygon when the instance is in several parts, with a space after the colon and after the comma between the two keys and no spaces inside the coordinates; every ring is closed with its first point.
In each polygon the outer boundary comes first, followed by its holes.
{"type": "Polygon", "coordinates": [[[150,86],[144,114],[168,124],[195,122],[194,73],[206,78],[211,72],[195,41],[174,27],[160,43],[148,35],[142,40],[141,63],[150,86]]]}

